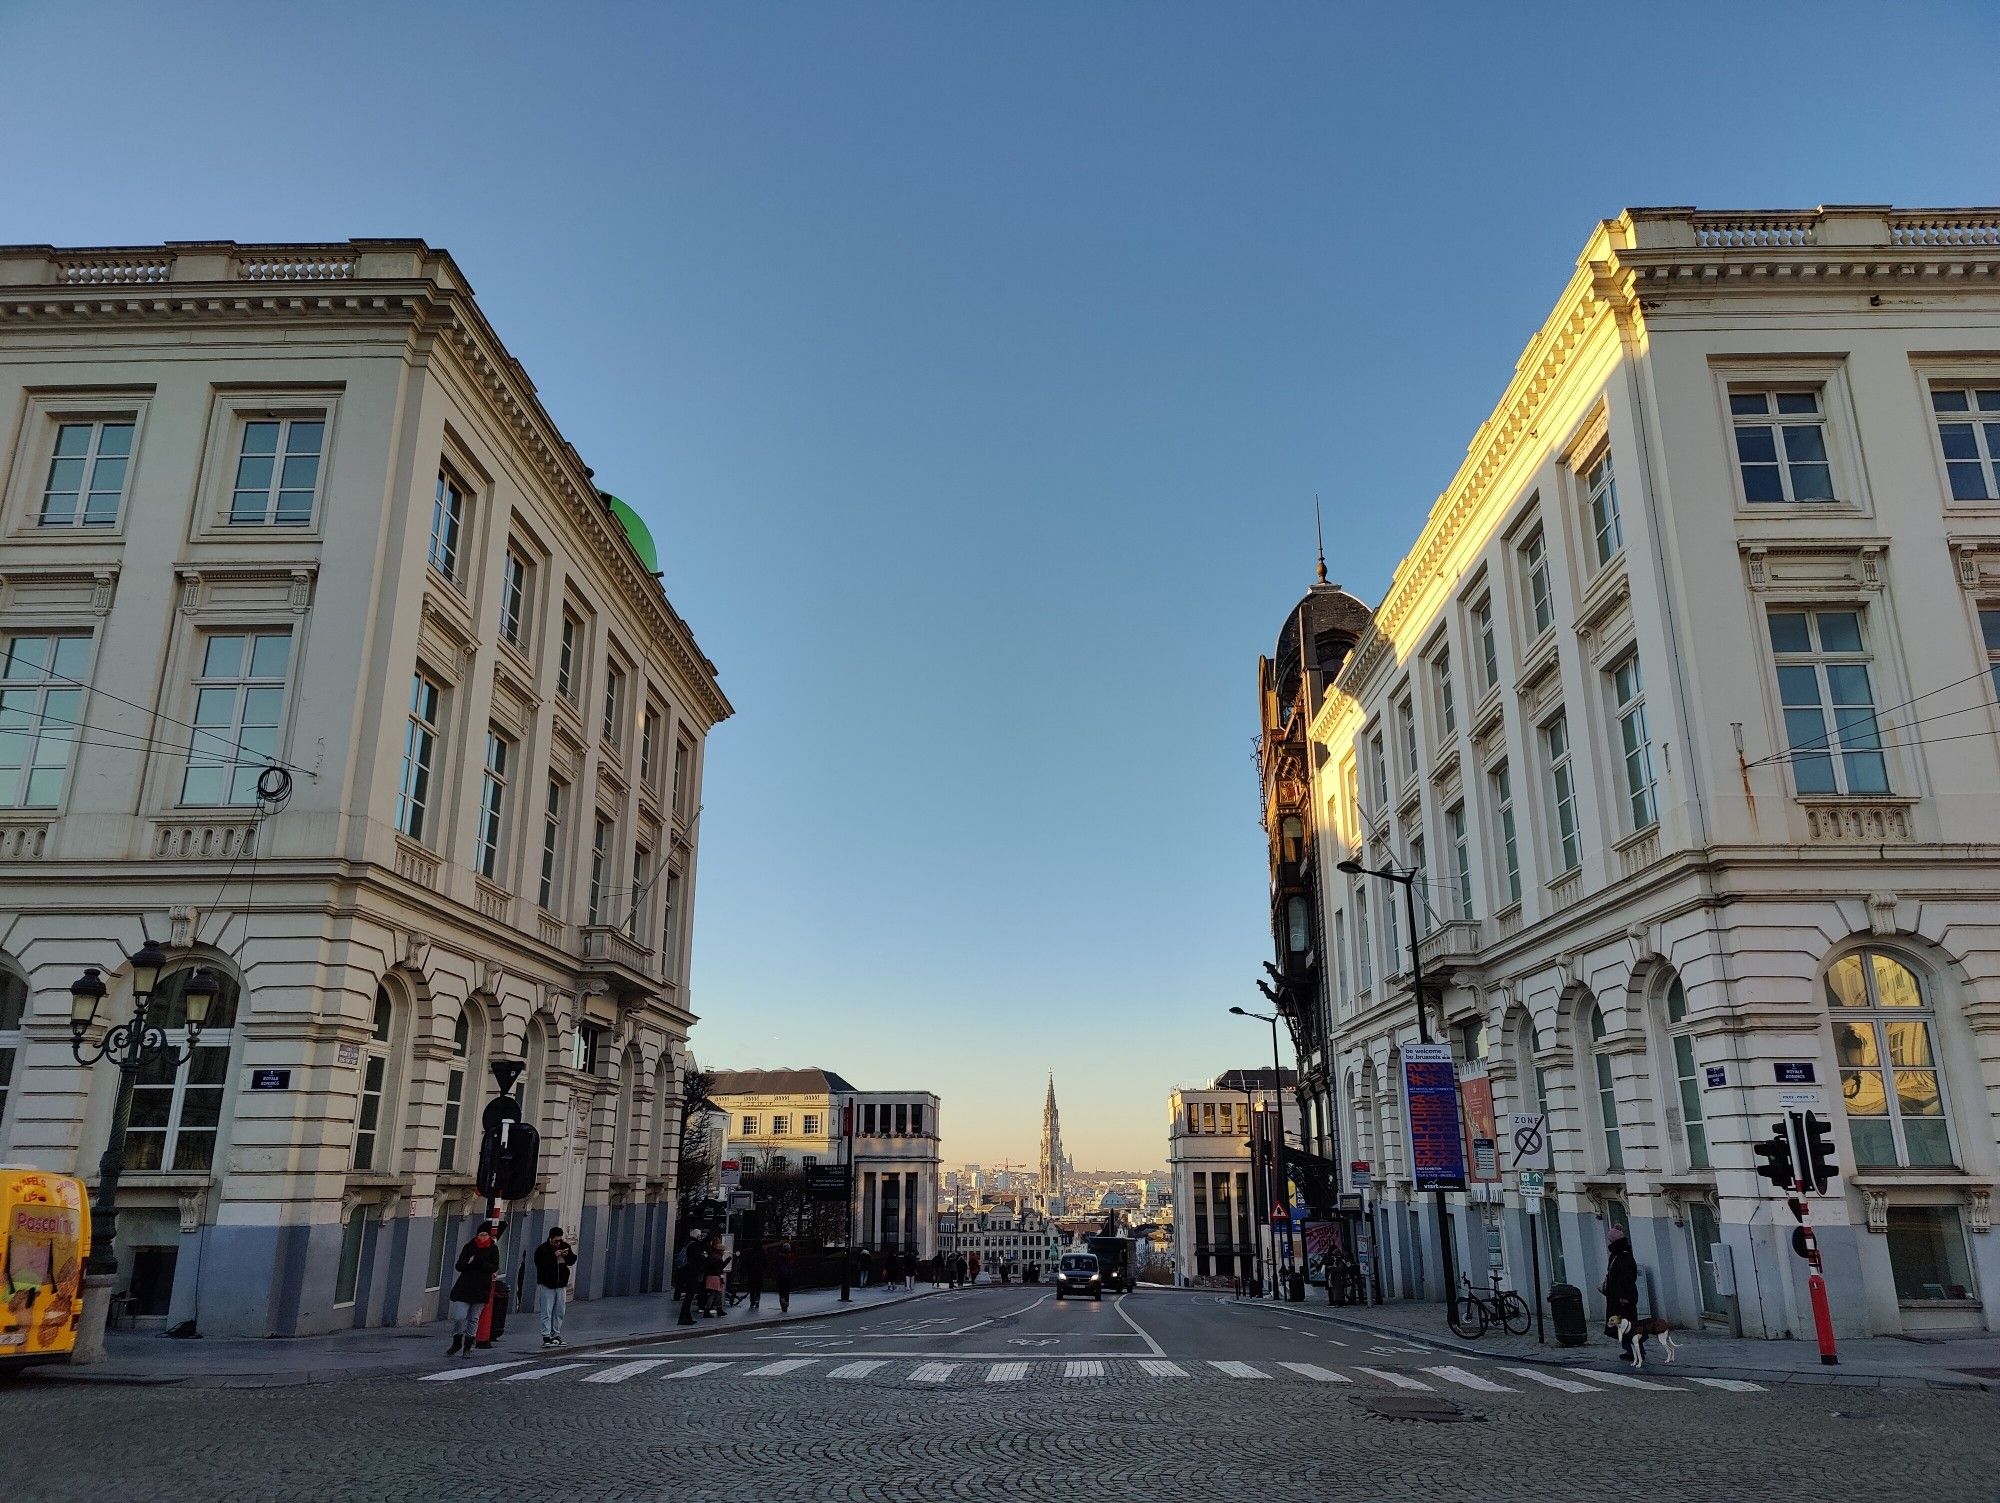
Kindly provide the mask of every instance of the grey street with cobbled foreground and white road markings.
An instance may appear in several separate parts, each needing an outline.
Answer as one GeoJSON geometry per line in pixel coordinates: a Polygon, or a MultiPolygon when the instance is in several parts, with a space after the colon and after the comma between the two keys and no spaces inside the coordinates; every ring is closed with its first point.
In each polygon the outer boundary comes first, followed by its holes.
{"type": "Polygon", "coordinates": [[[1986,1393],[1548,1369],[1034,1285],[328,1387],[24,1383],[0,1433],[8,1499],[120,1503],[2000,1495],[1986,1393]]]}

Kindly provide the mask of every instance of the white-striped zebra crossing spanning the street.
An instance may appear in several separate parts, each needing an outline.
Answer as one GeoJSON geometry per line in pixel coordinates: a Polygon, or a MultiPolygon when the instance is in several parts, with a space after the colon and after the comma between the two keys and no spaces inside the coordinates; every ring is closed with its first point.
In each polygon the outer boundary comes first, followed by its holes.
{"type": "Polygon", "coordinates": [[[724,1379],[772,1379],[796,1377],[804,1381],[852,1383],[872,1379],[878,1383],[908,1383],[916,1387],[940,1387],[952,1383],[992,1383],[1018,1387],[1028,1383],[1078,1383],[1106,1379],[1220,1379],[1232,1383],[1258,1383],[1286,1379],[1294,1383],[1328,1383],[1356,1389],[1390,1389],[1402,1393],[1534,1393],[1554,1389],[1556,1393],[1588,1397],[1622,1389],[1646,1389],[1654,1393],[1762,1393],[1762,1383],[1748,1383],[1736,1377],[1694,1377],[1672,1371],[1638,1377],[1634,1373],[1600,1373],[1596,1369],[1564,1367],[1508,1367],[1492,1365],[1476,1371],[1462,1363],[1438,1363],[1434,1367],[1326,1367],[1308,1361],[1196,1361],[1190,1357],[1048,1357],[1048,1359],[970,1359],[934,1357],[928,1361],[864,1357],[850,1361],[844,1357],[618,1357],[608,1361],[558,1361],[536,1365],[532,1359],[478,1363],[444,1367],[436,1373],[418,1375],[420,1383],[476,1383],[492,1379],[496,1383],[538,1383],[544,1379],[568,1377],[580,1383],[632,1383],[632,1381],[686,1381],[712,1377],[724,1379]]]}

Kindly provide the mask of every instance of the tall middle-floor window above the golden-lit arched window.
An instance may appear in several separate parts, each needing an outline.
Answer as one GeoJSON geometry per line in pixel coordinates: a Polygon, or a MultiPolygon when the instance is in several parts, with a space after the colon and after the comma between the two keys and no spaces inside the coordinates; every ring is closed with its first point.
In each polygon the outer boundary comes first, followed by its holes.
{"type": "Polygon", "coordinates": [[[1862,614],[1774,610],[1770,650],[1792,785],[1800,793],[1888,793],[1862,614]]]}

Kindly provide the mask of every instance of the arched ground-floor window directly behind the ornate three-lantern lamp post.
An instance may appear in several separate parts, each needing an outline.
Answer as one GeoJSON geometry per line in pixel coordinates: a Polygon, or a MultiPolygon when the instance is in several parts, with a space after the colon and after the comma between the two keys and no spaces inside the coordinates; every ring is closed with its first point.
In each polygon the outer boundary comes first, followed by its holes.
{"type": "MultiPolygon", "coordinates": [[[[126,1169],[202,1173],[216,1161],[222,1129],[222,1095],[230,1081],[230,1043],[236,1029],[236,977],[210,967],[216,999],[208,1003],[202,1037],[188,1061],[168,1053],[132,1077],[132,1123],[126,1127],[126,1169]]],[[[194,967],[162,975],[152,989],[148,1021],[166,1031],[176,1051],[188,1047],[188,977],[194,967]]]]}

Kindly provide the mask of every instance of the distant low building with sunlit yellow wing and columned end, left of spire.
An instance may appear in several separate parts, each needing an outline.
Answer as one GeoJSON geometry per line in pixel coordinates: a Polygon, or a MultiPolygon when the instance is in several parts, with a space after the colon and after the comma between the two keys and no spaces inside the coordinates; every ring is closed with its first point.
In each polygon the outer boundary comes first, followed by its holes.
{"type": "Polygon", "coordinates": [[[862,1091],[818,1065],[716,1071],[710,1099],[728,1115],[724,1155],[756,1169],[854,1159],[854,1245],[930,1257],[938,1249],[938,1097],[862,1091]],[[842,1137],[854,1113],[854,1141],[842,1137]]]}

